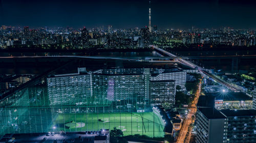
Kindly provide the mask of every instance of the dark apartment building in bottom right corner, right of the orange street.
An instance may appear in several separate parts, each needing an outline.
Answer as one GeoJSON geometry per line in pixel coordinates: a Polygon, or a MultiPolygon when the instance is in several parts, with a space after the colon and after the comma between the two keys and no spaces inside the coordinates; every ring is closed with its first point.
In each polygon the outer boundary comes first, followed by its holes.
{"type": "Polygon", "coordinates": [[[196,142],[255,142],[256,110],[198,108],[196,142]]]}

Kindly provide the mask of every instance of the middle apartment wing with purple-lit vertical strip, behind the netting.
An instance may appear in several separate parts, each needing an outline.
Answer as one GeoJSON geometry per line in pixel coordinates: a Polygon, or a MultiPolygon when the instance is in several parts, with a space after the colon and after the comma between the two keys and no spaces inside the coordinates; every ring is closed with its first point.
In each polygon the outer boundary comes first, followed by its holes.
{"type": "Polygon", "coordinates": [[[133,98],[148,99],[148,95],[146,95],[144,90],[145,80],[145,76],[142,74],[93,74],[92,89],[93,93],[105,95],[104,97],[111,101],[133,98]]]}

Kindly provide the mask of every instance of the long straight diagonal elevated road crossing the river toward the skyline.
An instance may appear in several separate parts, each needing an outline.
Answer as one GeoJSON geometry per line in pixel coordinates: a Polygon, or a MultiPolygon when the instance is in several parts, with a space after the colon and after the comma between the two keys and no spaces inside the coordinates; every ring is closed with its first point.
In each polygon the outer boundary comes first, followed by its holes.
{"type": "MultiPolygon", "coordinates": [[[[163,50],[163,49],[161,49],[161,48],[158,48],[157,46],[153,46],[153,48],[155,48],[155,49],[157,49],[157,50],[159,50],[159,51],[161,51],[161,52],[163,52],[163,53],[165,53],[165,54],[167,54],[167,55],[169,55],[169,56],[172,56],[172,57],[173,57],[173,56],[176,56],[175,54],[172,54],[172,53],[170,53],[170,52],[167,52],[167,51],[165,51],[165,50],[163,50]]],[[[185,66],[188,66],[188,67],[190,67],[190,68],[193,68],[193,69],[196,69],[196,68],[197,68],[202,74],[211,77],[211,78],[214,79],[216,82],[218,82],[218,83],[224,85],[225,87],[227,87],[228,89],[230,89],[230,90],[233,91],[233,92],[239,92],[239,91],[241,91],[240,89],[234,87],[234,86],[231,85],[230,83],[228,83],[228,82],[226,82],[226,81],[224,81],[224,80],[222,80],[222,79],[216,77],[215,75],[209,73],[206,69],[204,69],[204,68],[202,68],[202,67],[200,67],[200,66],[197,66],[197,65],[195,65],[195,64],[193,64],[193,63],[191,63],[191,62],[189,62],[189,61],[186,61],[186,60],[183,60],[183,59],[177,59],[177,62],[179,62],[180,64],[183,64],[183,65],[185,65],[185,66]]]]}

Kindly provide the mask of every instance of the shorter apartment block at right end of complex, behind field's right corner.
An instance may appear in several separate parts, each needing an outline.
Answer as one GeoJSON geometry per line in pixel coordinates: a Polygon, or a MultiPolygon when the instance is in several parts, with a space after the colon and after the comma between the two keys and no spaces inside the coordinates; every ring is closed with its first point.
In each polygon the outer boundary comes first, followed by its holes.
{"type": "Polygon", "coordinates": [[[150,102],[152,105],[170,107],[175,104],[175,80],[159,80],[150,82],[150,102]]]}

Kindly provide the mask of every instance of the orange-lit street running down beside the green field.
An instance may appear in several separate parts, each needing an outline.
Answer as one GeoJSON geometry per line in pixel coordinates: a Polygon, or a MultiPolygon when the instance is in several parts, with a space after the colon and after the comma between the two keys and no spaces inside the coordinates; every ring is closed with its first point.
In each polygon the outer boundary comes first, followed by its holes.
{"type": "Polygon", "coordinates": [[[176,141],[177,143],[189,142],[189,140],[190,140],[191,129],[188,131],[188,128],[191,123],[195,122],[195,118],[192,119],[192,116],[195,115],[195,113],[197,112],[197,102],[198,102],[199,96],[201,94],[201,84],[202,84],[202,81],[200,81],[198,84],[198,90],[197,90],[195,99],[191,102],[191,105],[188,107],[189,111],[186,116],[186,119],[184,120],[184,122],[182,124],[179,136],[176,141]],[[187,140],[185,140],[185,136],[187,133],[189,133],[189,135],[188,135],[187,140]]]}

